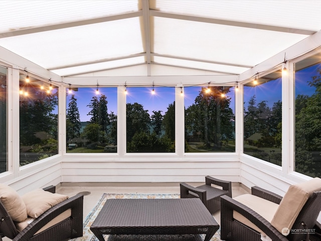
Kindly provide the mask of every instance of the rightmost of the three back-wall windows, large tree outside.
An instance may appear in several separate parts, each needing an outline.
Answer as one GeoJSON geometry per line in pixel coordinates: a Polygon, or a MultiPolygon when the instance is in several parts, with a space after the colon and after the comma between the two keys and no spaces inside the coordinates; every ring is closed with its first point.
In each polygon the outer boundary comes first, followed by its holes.
{"type": "Polygon", "coordinates": [[[185,152],[235,152],[234,87],[185,87],[185,152]]]}

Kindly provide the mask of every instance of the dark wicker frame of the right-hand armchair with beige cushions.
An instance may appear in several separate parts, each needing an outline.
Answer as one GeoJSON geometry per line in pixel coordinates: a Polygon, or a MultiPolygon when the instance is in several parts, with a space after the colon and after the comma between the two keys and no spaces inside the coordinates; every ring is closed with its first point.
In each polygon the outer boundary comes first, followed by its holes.
{"type": "MultiPolygon", "coordinates": [[[[267,191],[259,187],[252,187],[252,195],[263,198],[270,202],[280,204],[282,197],[267,191]]],[[[250,194],[245,194],[250,195],[250,194]]],[[[290,206],[290,204],[289,204],[290,206]]],[[[263,207],[263,209],[266,208],[263,207]]],[[[315,228],[316,218],[321,210],[321,191],[314,191],[307,199],[304,206],[300,209],[298,216],[294,219],[292,227],[289,229],[289,234],[285,236],[280,231],[278,231],[271,222],[267,221],[264,217],[258,214],[253,209],[248,206],[228,197],[221,197],[221,238],[226,241],[237,240],[237,241],[261,241],[261,233],[254,230],[253,227],[247,226],[248,222],[244,224],[243,222],[236,220],[235,212],[244,216],[247,220],[252,222],[264,232],[273,241],[278,240],[291,240],[291,241],[301,241],[301,240],[319,240],[316,235],[311,235],[309,237],[309,232],[292,232],[292,230],[315,228]],[[233,213],[234,212],[234,213],[233,213]],[[311,238],[311,239],[309,239],[311,238]]],[[[267,210],[268,212],[269,210],[267,210]]],[[[275,213],[271,213],[273,216],[275,213]]],[[[243,220],[244,221],[244,220],[243,220]]],[[[316,229],[314,229],[316,230],[316,229]]],[[[283,230],[282,230],[283,231],[283,230]]],[[[313,231],[313,230],[311,230],[313,231]]]]}

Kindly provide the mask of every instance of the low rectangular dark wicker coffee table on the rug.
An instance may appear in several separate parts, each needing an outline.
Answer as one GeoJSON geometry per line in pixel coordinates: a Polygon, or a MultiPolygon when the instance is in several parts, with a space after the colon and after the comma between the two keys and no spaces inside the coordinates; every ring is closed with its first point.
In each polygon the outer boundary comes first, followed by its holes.
{"type": "Polygon", "coordinates": [[[218,229],[199,198],[108,199],[90,227],[100,241],[209,241],[218,229]]]}

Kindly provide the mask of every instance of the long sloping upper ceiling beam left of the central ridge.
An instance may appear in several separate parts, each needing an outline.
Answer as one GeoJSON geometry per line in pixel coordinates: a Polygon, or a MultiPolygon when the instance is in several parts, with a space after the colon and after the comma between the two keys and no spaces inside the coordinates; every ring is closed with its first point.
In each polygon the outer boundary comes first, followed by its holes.
{"type": "Polygon", "coordinates": [[[88,24],[97,24],[97,23],[109,22],[109,21],[120,20],[120,19],[128,19],[128,18],[134,18],[134,17],[140,17],[140,16],[142,16],[142,11],[136,11],[132,13],[118,14],[118,15],[112,15],[112,16],[101,17],[101,18],[93,18],[93,19],[73,21],[73,22],[62,23],[62,24],[53,24],[53,25],[46,25],[46,26],[35,27],[35,28],[13,30],[9,32],[0,33],[0,38],[40,33],[45,31],[78,27],[78,26],[83,26],[88,24]]]}

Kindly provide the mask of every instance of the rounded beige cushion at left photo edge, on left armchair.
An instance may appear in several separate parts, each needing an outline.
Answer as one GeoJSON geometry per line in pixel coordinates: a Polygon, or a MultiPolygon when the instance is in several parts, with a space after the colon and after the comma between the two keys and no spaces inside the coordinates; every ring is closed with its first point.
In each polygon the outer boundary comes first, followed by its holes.
{"type": "Polygon", "coordinates": [[[28,214],[26,205],[15,189],[0,183],[0,200],[12,220],[22,222],[27,219],[28,214]]]}

